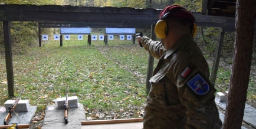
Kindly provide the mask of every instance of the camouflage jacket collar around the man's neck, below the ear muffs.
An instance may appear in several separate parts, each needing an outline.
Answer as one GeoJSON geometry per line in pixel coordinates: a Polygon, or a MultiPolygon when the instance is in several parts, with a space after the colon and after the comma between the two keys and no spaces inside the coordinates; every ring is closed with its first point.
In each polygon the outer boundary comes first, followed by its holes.
{"type": "Polygon", "coordinates": [[[184,35],[180,39],[177,40],[176,43],[165,53],[164,59],[167,59],[170,55],[172,55],[180,46],[186,45],[193,41],[192,35],[184,35]]]}

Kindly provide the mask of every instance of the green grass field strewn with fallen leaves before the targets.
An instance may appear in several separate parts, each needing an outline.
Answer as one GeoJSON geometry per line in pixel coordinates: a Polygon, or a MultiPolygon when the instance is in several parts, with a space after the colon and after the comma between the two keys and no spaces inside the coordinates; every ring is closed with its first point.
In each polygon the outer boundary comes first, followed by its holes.
{"type": "MultiPolygon", "coordinates": [[[[136,40],[137,43],[137,40],[136,40]]],[[[54,99],[77,96],[84,105],[87,119],[141,117],[146,100],[148,55],[132,40],[43,40],[42,47],[30,47],[25,55],[13,55],[15,96],[22,89],[22,99],[38,106],[44,113],[54,99]]],[[[157,59],[154,65],[156,66],[157,59]]],[[[5,57],[0,57],[0,106],[9,100],[5,57]]],[[[216,82],[228,84],[230,71],[219,69],[216,82]]],[[[248,99],[255,100],[255,77],[248,89],[248,99]]],[[[42,118],[41,118],[42,119],[42,118]]]]}

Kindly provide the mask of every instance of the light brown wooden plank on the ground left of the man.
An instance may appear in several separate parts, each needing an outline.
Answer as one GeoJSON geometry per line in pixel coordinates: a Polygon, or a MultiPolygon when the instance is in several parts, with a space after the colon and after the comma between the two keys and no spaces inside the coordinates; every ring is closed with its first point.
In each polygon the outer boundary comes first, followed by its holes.
{"type": "Polygon", "coordinates": [[[143,118],[127,118],[127,119],[115,119],[115,120],[90,120],[90,121],[81,121],[82,125],[88,124],[114,124],[114,123],[134,123],[142,122],[143,118]]]}

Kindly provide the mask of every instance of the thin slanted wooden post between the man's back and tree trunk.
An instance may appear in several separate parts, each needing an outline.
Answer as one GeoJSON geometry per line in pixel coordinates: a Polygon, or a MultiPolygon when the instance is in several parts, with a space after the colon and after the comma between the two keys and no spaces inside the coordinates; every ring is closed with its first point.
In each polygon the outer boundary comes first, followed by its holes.
{"type": "Polygon", "coordinates": [[[214,84],[218,72],[219,67],[219,59],[221,58],[221,50],[222,50],[222,43],[224,39],[225,32],[222,30],[222,28],[219,28],[219,35],[218,35],[218,43],[215,50],[215,57],[214,57],[214,63],[212,65],[212,74],[211,74],[211,83],[214,84]]]}

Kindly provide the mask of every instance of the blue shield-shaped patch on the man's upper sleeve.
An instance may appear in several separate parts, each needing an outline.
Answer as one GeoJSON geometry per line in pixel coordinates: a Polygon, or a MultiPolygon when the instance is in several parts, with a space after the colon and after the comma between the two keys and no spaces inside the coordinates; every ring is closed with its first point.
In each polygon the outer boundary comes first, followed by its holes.
{"type": "Polygon", "coordinates": [[[196,76],[186,84],[188,84],[196,94],[204,95],[209,91],[209,84],[199,74],[196,74],[196,76]]]}

